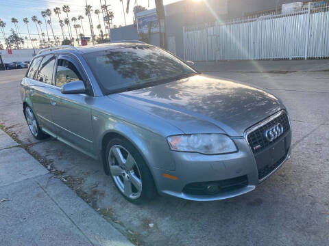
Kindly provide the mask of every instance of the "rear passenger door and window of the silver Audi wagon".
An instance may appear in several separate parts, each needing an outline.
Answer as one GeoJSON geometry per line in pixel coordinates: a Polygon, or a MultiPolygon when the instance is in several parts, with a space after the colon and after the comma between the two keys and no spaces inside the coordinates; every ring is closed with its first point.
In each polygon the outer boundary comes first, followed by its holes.
{"type": "Polygon", "coordinates": [[[56,55],[45,55],[39,61],[38,69],[31,74],[33,83],[30,86],[30,97],[33,111],[42,128],[53,132],[53,120],[51,114],[51,91],[53,90],[53,68],[56,63],[56,55]]]}

